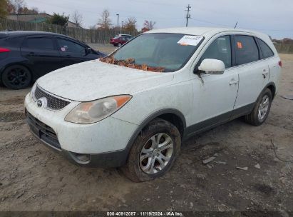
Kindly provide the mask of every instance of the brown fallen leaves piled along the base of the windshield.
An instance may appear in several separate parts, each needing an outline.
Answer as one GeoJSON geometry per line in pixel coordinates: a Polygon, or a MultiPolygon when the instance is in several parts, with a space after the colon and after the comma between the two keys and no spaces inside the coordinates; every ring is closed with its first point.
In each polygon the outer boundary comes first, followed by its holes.
{"type": "Polygon", "coordinates": [[[123,60],[115,59],[113,55],[106,56],[100,59],[100,61],[107,63],[107,64],[114,64],[118,66],[125,66],[132,69],[141,69],[144,71],[154,71],[154,72],[163,72],[165,71],[164,67],[154,67],[154,66],[148,66],[147,64],[135,64],[134,58],[128,58],[123,60]]]}

